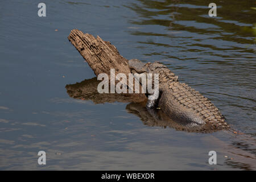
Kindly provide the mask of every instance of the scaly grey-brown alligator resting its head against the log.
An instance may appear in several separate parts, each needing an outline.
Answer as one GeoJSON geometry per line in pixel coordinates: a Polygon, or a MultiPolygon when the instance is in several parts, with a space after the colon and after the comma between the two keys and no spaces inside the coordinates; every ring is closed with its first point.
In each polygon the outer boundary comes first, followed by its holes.
{"type": "MultiPolygon", "coordinates": [[[[230,128],[225,117],[208,98],[187,84],[179,82],[178,77],[166,65],[159,61],[143,63],[138,59],[131,59],[128,64],[132,73],[145,73],[146,75],[158,73],[159,75],[158,98],[149,99],[152,94],[148,94],[146,105],[148,110],[161,109],[170,118],[191,123],[191,126],[209,125],[217,130],[230,128]]],[[[135,78],[140,81],[139,77],[135,78]]]]}

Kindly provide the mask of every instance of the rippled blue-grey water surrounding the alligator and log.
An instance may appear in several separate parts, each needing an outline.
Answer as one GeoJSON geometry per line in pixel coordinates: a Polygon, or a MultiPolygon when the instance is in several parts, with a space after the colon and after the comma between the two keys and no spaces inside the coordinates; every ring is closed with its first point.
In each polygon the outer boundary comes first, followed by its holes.
{"type": "Polygon", "coordinates": [[[254,1],[214,1],[215,18],[211,1],[44,2],[46,18],[36,1],[0,2],[0,169],[256,169],[254,1]],[[67,84],[94,77],[73,28],[168,65],[245,135],[151,127],[129,103],[69,97],[67,84]]]}

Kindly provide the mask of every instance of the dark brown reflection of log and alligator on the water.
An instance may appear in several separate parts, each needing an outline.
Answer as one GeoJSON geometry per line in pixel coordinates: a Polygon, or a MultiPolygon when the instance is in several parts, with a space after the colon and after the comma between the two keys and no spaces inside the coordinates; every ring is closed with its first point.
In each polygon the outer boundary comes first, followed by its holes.
{"type": "Polygon", "coordinates": [[[196,132],[196,133],[212,133],[217,129],[210,125],[196,125],[195,123],[188,123],[178,121],[168,117],[160,109],[147,110],[146,97],[138,94],[117,94],[117,93],[98,93],[97,86],[100,81],[96,77],[77,82],[76,84],[66,85],[67,93],[70,97],[80,100],[92,100],[94,104],[103,104],[105,102],[127,102],[126,106],[128,113],[132,113],[141,118],[144,125],[170,127],[179,131],[196,132]]]}

